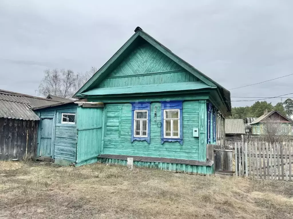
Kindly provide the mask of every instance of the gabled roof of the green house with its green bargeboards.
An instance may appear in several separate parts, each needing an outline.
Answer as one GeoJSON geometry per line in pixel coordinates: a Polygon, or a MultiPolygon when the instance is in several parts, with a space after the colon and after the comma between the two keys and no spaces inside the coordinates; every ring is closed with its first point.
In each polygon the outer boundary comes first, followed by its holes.
{"type": "MultiPolygon", "coordinates": [[[[103,65],[85,84],[82,86],[79,91],[77,91],[74,96],[83,97],[86,96],[84,93],[97,88],[97,85],[105,78],[107,74],[109,74],[115,65],[118,65],[122,60],[124,55],[127,52],[131,51],[136,44],[136,39],[142,38],[147,41],[149,44],[154,46],[168,58],[176,62],[178,65],[186,69],[188,72],[193,74],[195,77],[203,81],[207,86],[217,89],[219,96],[221,98],[221,103],[223,103],[224,107],[226,108],[227,115],[231,115],[231,98],[230,98],[230,91],[226,90],[224,87],[219,85],[217,82],[213,81],[205,74],[197,70],[195,67],[190,65],[189,63],[185,62],[183,59],[175,55],[171,52],[170,49],[163,46],[159,43],[156,39],[151,37],[149,34],[144,32],[140,27],[137,27],[134,30],[134,34],[130,37],[130,39],[103,65]]],[[[161,86],[161,85],[160,85],[161,86]]],[[[169,86],[171,88],[171,86],[169,86]]],[[[100,88],[97,88],[100,89],[100,88]]],[[[132,88],[130,88],[132,89],[132,88]]],[[[112,92],[112,91],[111,91],[112,92]]],[[[141,93],[144,93],[143,89],[140,89],[141,93]]],[[[105,93],[107,95],[108,93],[105,93]]]]}

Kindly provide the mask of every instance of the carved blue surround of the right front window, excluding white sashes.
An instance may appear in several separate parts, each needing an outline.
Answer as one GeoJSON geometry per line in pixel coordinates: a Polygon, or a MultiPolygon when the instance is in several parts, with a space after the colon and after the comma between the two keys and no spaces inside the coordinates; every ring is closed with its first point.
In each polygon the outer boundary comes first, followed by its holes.
{"type": "Polygon", "coordinates": [[[183,145],[183,135],[182,135],[182,102],[183,100],[177,101],[161,101],[161,144],[165,141],[176,142],[178,141],[180,145],[183,145]],[[180,133],[179,138],[164,138],[164,109],[180,109],[179,118],[180,118],[180,133]]]}

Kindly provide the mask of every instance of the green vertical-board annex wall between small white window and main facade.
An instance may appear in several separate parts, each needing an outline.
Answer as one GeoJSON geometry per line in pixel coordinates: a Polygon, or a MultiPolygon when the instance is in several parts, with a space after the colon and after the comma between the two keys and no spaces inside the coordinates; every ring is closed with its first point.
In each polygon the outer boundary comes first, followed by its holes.
{"type": "Polygon", "coordinates": [[[77,109],[77,163],[92,163],[101,154],[103,108],[77,109]]]}

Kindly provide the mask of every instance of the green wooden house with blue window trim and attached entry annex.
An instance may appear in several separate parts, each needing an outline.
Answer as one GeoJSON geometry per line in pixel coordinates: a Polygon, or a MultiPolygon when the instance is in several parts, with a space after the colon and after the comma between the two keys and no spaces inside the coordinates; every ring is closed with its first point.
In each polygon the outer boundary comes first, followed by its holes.
{"type": "Polygon", "coordinates": [[[224,143],[230,92],[141,28],[74,97],[84,100],[35,109],[41,124],[52,112],[45,155],[55,162],[126,165],[133,157],[136,166],[213,173],[206,145],[224,143]]]}

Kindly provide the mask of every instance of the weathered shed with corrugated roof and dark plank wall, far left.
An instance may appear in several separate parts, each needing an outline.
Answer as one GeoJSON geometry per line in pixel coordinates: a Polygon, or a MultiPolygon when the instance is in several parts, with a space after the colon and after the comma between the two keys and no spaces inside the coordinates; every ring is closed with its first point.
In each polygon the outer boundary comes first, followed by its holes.
{"type": "Polygon", "coordinates": [[[60,101],[0,90],[0,160],[36,157],[40,118],[31,108],[56,103],[60,101]]]}

